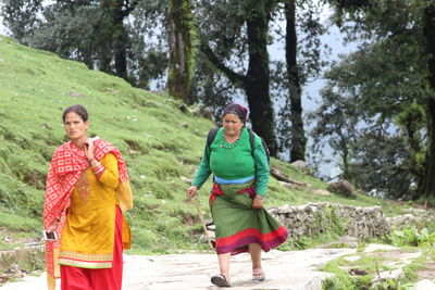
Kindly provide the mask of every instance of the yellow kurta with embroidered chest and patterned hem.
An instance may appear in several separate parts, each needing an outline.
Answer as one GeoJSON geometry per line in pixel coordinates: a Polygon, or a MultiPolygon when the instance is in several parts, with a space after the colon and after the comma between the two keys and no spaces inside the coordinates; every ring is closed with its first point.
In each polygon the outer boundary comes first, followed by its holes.
{"type": "MultiPolygon", "coordinates": [[[[101,161],[105,171],[97,178],[86,169],[75,185],[62,230],[59,264],[83,268],[111,268],[115,235],[119,186],[117,161],[108,153],[101,161]]],[[[125,220],[125,218],[123,217],[125,220]]],[[[129,232],[123,223],[123,237],[129,232]]],[[[128,235],[127,235],[128,236],[128,235]]]]}

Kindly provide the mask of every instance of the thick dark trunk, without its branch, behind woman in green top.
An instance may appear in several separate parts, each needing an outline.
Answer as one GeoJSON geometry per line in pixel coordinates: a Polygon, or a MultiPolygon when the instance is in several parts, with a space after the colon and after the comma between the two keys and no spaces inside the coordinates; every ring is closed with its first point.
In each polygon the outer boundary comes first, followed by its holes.
{"type": "Polygon", "coordinates": [[[247,20],[249,67],[244,87],[248,98],[252,129],[268,143],[272,156],[277,154],[273,106],[269,92],[268,13],[264,0],[253,0],[247,20]]]}

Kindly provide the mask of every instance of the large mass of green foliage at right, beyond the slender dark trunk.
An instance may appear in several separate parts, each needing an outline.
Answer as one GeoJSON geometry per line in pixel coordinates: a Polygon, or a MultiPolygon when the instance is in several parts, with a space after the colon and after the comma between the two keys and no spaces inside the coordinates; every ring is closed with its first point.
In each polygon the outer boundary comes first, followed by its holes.
{"type": "Polygon", "coordinates": [[[311,115],[315,151],[333,148],[344,177],[366,191],[419,197],[433,139],[427,100],[434,96],[426,78],[423,7],[338,2],[334,21],[360,46],[326,74],[324,103],[311,115]]]}

